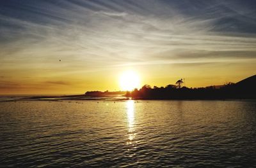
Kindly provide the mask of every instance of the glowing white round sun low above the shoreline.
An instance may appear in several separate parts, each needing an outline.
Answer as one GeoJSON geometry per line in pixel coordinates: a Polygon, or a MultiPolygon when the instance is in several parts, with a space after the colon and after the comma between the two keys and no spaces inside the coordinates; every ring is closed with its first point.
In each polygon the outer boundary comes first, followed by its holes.
{"type": "Polygon", "coordinates": [[[125,71],[119,78],[120,88],[124,91],[131,91],[140,87],[140,76],[134,71],[125,71]]]}

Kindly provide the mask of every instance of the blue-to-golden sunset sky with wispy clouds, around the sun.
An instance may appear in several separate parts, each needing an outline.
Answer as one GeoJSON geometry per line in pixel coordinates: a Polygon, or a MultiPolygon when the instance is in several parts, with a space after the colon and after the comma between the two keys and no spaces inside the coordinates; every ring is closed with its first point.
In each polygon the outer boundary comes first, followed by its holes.
{"type": "Polygon", "coordinates": [[[255,74],[256,1],[13,1],[0,4],[0,94],[223,85],[255,74]],[[60,61],[61,60],[61,61],[60,61]]]}

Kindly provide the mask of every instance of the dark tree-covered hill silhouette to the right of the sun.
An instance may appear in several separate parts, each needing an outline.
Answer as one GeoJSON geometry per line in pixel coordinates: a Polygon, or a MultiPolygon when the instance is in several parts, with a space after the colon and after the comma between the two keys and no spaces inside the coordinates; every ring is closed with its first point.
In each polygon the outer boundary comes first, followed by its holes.
{"type": "Polygon", "coordinates": [[[256,99],[256,75],[237,83],[227,83],[222,87],[180,88],[177,85],[154,87],[144,85],[140,90],[127,92],[133,99],[256,99]]]}

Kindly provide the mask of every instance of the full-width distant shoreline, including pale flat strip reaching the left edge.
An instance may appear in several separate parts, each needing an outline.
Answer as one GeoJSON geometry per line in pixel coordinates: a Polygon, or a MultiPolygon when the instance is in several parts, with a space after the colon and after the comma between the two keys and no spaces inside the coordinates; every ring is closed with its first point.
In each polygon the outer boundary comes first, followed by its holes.
{"type": "Polygon", "coordinates": [[[100,92],[88,91],[85,94],[76,95],[0,95],[0,101],[59,101],[59,100],[255,100],[256,99],[256,75],[250,76],[237,83],[227,83],[223,87],[216,88],[188,88],[180,85],[167,85],[166,87],[150,87],[144,85],[139,90],[135,88],[131,92],[115,91],[100,92]]]}

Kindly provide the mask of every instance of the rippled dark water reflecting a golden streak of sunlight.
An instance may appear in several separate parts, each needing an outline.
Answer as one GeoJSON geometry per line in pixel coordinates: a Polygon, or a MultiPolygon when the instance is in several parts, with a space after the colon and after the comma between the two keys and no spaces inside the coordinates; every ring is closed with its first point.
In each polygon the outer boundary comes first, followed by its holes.
{"type": "Polygon", "coordinates": [[[255,101],[0,102],[0,167],[255,167],[255,101]]]}

